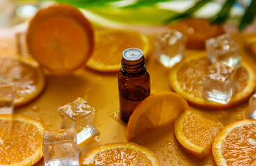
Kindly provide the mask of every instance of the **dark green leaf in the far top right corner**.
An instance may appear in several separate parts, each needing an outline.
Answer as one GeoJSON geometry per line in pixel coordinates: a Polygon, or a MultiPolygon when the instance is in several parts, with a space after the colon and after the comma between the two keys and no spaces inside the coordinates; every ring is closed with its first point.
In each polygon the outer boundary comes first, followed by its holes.
{"type": "Polygon", "coordinates": [[[246,8],[246,12],[244,12],[244,15],[239,23],[239,30],[243,30],[243,28],[246,28],[248,24],[250,24],[256,15],[256,0],[252,0],[250,3],[250,6],[246,8]]]}

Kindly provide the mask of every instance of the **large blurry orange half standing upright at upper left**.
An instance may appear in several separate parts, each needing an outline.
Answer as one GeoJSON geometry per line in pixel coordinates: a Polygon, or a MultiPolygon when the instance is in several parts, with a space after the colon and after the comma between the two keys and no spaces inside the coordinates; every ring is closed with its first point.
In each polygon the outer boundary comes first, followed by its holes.
{"type": "Polygon", "coordinates": [[[37,12],[26,40],[41,66],[52,73],[69,73],[84,66],[93,53],[93,26],[77,8],[56,3],[37,12]]]}

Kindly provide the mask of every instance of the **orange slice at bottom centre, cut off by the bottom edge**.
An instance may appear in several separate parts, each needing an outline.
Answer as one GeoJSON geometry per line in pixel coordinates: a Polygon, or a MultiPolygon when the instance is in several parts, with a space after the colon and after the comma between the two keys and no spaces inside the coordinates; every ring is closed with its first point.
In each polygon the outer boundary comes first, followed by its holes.
{"type": "Polygon", "coordinates": [[[159,159],[145,147],[131,142],[101,145],[88,152],[82,165],[147,165],[160,166],[159,159]]]}

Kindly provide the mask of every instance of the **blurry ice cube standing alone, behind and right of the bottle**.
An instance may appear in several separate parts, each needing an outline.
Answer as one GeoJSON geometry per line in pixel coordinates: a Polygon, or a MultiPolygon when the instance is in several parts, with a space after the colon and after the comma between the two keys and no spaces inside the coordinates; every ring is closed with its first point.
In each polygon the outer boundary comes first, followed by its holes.
{"type": "Polygon", "coordinates": [[[177,30],[168,30],[157,35],[156,57],[163,66],[171,67],[182,60],[185,55],[186,37],[177,30]]]}

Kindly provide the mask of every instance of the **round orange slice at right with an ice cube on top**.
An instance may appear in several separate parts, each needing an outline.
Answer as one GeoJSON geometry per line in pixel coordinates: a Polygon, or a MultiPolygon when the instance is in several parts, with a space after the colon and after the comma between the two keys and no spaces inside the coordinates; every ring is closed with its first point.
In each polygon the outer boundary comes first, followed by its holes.
{"type": "Polygon", "coordinates": [[[207,67],[211,65],[206,55],[188,57],[172,68],[169,83],[173,91],[182,95],[189,103],[208,109],[226,109],[237,106],[246,101],[255,89],[255,72],[243,59],[242,66],[237,69],[237,89],[230,102],[220,104],[206,100],[203,97],[202,77],[207,73],[207,67]]]}

